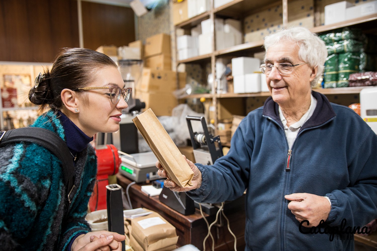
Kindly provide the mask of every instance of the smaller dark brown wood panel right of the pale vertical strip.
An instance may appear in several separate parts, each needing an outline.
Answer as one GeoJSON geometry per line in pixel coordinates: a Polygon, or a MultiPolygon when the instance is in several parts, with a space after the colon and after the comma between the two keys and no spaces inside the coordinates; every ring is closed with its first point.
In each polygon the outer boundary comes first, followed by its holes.
{"type": "Polygon", "coordinates": [[[124,46],[135,41],[134,13],[131,8],[82,2],[84,47],[124,46]]]}

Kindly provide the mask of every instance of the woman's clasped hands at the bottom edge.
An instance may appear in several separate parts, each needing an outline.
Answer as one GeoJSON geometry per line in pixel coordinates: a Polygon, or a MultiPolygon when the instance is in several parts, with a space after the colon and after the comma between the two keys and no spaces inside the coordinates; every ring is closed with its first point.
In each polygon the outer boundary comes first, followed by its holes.
{"type": "Polygon", "coordinates": [[[109,231],[96,231],[81,234],[72,243],[72,251],[120,251],[121,241],[126,236],[109,231]]]}

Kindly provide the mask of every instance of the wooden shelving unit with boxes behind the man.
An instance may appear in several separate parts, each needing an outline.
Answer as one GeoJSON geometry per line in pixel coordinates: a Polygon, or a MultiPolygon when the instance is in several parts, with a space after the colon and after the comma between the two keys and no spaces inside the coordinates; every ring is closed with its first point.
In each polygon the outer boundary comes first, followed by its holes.
{"type": "MultiPolygon", "coordinates": [[[[266,0],[266,1],[254,1],[254,0],[234,0],[230,3],[227,3],[223,6],[220,6],[218,8],[213,8],[213,1],[211,0],[211,9],[210,11],[207,11],[203,14],[200,14],[196,17],[191,18],[190,20],[184,21],[180,24],[178,24],[177,28],[184,28],[184,29],[190,29],[196,25],[198,25],[202,20],[210,18],[212,21],[212,25],[214,26],[214,20],[216,17],[227,17],[227,18],[235,18],[242,20],[247,15],[257,13],[259,11],[265,10],[267,8],[273,8],[273,6],[282,5],[282,23],[283,26],[287,25],[288,20],[288,4],[293,0],[266,0]]],[[[314,0],[316,2],[316,0],[314,0]]],[[[315,3],[314,3],[315,5],[315,3]]],[[[318,12],[318,10],[316,10],[318,12]]],[[[318,18],[319,13],[315,13],[314,17],[318,18]]],[[[319,23],[319,21],[315,20],[313,17],[313,23],[319,23]]],[[[377,14],[372,14],[364,17],[354,18],[352,20],[342,21],[339,23],[334,23],[330,25],[321,25],[311,28],[310,30],[315,33],[321,33],[326,32],[333,29],[338,29],[342,27],[360,27],[363,30],[373,30],[373,32],[376,32],[377,27],[377,14]]],[[[215,32],[213,30],[213,32],[215,32]]],[[[213,36],[213,45],[215,45],[215,37],[213,36]]],[[[213,76],[215,76],[215,61],[216,58],[224,57],[224,56],[232,56],[232,57],[238,57],[238,56],[247,56],[252,55],[255,52],[263,52],[263,40],[260,41],[254,41],[244,44],[239,44],[236,46],[228,47],[222,50],[215,50],[214,52],[206,55],[200,55],[196,56],[194,58],[185,59],[182,61],[178,61],[177,64],[207,64],[211,63],[211,73],[213,76]]],[[[368,88],[368,87],[365,87],[368,88]]],[[[320,93],[323,93],[325,95],[333,95],[333,94],[359,94],[360,91],[363,89],[363,87],[344,87],[344,88],[328,88],[328,89],[315,89],[315,91],[318,91],[320,93]]],[[[217,106],[218,99],[224,99],[224,98],[243,98],[243,97],[267,97],[270,96],[270,93],[225,93],[225,94],[217,94],[216,93],[216,87],[212,89],[212,93],[210,94],[193,94],[193,95],[187,95],[183,97],[182,99],[193,99],[193,98],[200,98],[200,97],[206,97],[211,98],[213,101],[213,106],[217,106]]],[[[217,118],[215,119],[215,125],[218,123],[217,118]]]]}

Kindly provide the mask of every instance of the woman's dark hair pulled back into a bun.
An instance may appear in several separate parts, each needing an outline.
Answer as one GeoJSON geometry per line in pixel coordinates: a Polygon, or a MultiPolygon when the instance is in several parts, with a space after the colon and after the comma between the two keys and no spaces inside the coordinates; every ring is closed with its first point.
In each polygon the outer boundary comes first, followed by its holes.
{"type": "Polygon", "coordinates": [[[44,68],[37,87],[29,91],[29,100],[40,105],[40,111],[48,106],[59,110],[63,105],[60,93],[63,89],[83,88],[93,79],[95,71],[104,67],[116,67],[112,59],[103,53],[84,48],[63,48],[56,56],[51,71],[44,68]]]}

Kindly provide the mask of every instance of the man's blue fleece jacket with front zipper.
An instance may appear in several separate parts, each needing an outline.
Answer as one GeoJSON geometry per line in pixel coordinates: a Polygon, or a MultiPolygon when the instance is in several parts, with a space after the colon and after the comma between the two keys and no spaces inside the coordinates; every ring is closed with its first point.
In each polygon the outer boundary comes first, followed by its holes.
{"type": "Polygon", "coordinates": [[[348,107],[312,94],[317,106],[290,149],[289,163],[278,105],[269,97],[241,121],[226,156],[212,166],[196,164],[202,185],[187,192],[195,201],[233,200],[247,189],[245,250],[353,250],[352,234],[334,234],[331,241],[329,231],[361,230],[377,218],[376,135],[348,107]],[[291,193],[330,198],[329,218],[320,228],[327,233],[300,232],[284,198],[291,193]]]}

